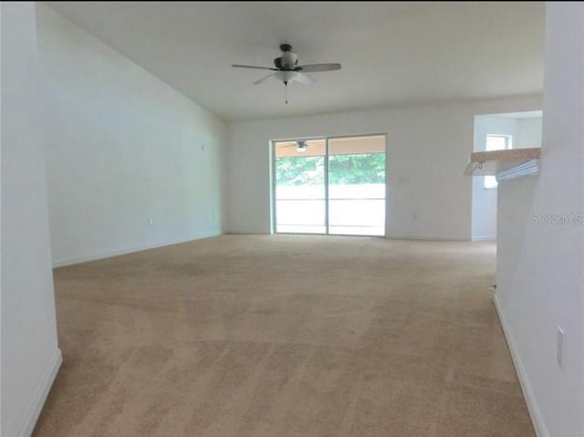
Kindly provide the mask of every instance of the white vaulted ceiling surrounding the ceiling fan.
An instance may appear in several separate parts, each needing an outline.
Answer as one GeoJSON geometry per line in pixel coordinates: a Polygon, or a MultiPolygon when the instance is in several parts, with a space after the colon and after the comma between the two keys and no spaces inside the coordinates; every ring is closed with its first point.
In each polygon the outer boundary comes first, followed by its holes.
{"type": "Polygon", "coordinates": [[[512,2],[48,2],[224,120],[307,115],[543,89],[544,4],[512,2]],[[291,83],[269,72],[339,62],[291,83]],[[266,73],[266,74],[265,74],[266,73]]]}

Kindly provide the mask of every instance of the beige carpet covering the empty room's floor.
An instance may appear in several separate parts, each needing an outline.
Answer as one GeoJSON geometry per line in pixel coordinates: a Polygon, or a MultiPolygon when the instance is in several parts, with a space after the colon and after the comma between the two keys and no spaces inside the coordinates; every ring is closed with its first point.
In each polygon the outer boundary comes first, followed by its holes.
{"type": "Polygon", "coordinates": [[[226,235],[55,271],[35,436],[532,436],[495,245],[226,235]]]}

